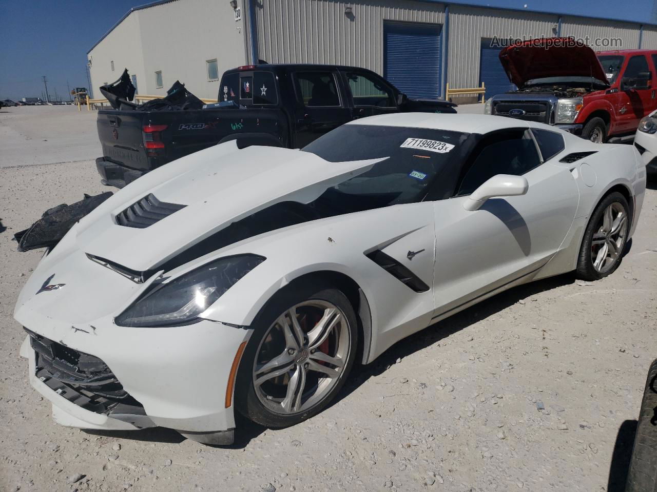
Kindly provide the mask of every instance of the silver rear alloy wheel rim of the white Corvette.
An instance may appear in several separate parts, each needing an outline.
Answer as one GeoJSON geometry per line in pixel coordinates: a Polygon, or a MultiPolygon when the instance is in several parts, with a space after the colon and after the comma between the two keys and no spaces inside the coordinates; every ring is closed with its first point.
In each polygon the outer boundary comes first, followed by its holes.
{"type": "Polygon", "coordinates": [[[617,201],[602,214],[591,241],[591,261],[600,274],[608,272],[620,258],[627,236],[627,213],[617,201]]]}

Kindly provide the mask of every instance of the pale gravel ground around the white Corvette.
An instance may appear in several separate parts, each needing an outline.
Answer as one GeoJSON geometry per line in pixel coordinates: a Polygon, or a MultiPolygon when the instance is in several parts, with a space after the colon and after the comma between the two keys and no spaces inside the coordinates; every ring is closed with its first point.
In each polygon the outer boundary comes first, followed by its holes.
{"type": "Polygon", "coordinates": [[[657,356],[654,182],[612,276],[560,276],[486,300],[356,368],[321,415],[284,430],[243,423],[222,449],[162,428],[53,423],[12,318],[41,253],[18,253],[11,237],[45,209],[108,188],[93,161],[0,176],[0,490],[622,491],[657,356]]]}

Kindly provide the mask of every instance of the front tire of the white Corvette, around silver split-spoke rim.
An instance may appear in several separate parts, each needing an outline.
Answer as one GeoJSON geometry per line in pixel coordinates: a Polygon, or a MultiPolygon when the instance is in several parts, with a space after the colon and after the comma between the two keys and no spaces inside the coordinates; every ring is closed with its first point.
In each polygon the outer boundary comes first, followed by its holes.
{"type": "Polygon", "coordinates": [[[267,302],[252,326],[254,333],[246,344],[237,374],[237,411],[263,426],[283,428],[298,424],[325,409],[344,385],[357,352],[357,319],[346,295],[332,286],[318,285],[317,282],[292,283],[267,302]],[[301,344],[297,342],[300,337],[294,335],[298,332],[290,323],[292,308],[296,308],[298,326],[304,334],[301,344]],[[320,318],[328,320],[323,325],[334,325],[326,330],[326,336],[319,329],[313,335],[313,327],[321,324],[316,321],[320,318]],[[292,338],[284,336],[281,319],[290,327],[288,333],[292,338]],[[313,344],[317,348],[313,348],[313,344]],[[342,367],[332,367],[327,357],[340,361],[342,367]],[[267,363],[274,358],[281,362],[265,371],[267,363]],[[319,358],[322,359],[318,363],[319,358]],[[284,371],[286,367],[289,369],[284,371]],[[325,374],[330,372],[327,368],[331,369],[332,377],[325,374]],[[277,375],[271,377],[274,373],[277,375]],[[265,382],[256,385],[256,380],[265,382]],[[296,388],[302,388],[302,398],[295,397],[300,394],[298,390],[292,390],[290,400],[289,390],[293,381],[296,388]],[[301,384],[298,385],[298,382],[301,384]],[[306,396],[313,390],[315,394],[306,396]]]}

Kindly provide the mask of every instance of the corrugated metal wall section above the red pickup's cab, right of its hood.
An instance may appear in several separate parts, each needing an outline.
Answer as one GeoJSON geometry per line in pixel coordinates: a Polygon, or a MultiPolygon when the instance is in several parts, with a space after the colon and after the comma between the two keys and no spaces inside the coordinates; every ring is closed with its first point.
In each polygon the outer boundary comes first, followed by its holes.
{"type": "Polygon", "coordinates": [[[629,22],[564,16],[561,20],[561,35],[584,39],[595,51],[639,47],[639,26],[629,22]],[[604,43],[608,43],[605,40],[611,37],[620,38],[622,46],[605,46],[604,43]],[[595,42],[599,45],[595,45],[595,42]]]}

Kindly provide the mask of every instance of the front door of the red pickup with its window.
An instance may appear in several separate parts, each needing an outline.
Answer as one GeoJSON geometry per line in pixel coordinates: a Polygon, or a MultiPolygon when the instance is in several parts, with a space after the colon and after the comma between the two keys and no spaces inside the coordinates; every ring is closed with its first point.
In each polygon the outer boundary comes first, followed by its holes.
{"type": "MultiPolygon", "coordinates": [[[[627,60],[625,70],[621,74],[618,100],[618,129],[630,133],[637,129],[639,120],[647,114],[651,106],[652,87],[641,87],[636,83],[651,79],[648,60],[645,55],[637,54],[627,60]]],[[[648,83],[650,85],[650,83],[648,83]]]]}

